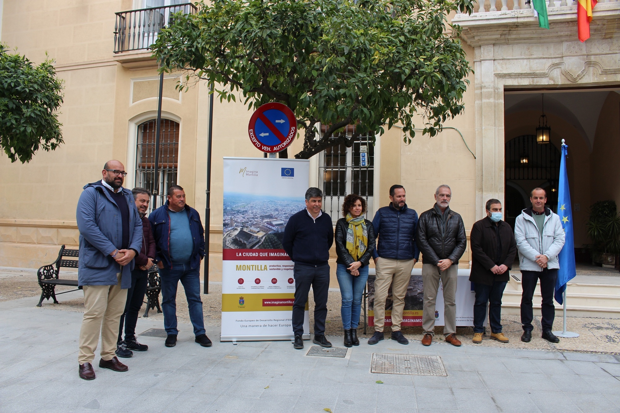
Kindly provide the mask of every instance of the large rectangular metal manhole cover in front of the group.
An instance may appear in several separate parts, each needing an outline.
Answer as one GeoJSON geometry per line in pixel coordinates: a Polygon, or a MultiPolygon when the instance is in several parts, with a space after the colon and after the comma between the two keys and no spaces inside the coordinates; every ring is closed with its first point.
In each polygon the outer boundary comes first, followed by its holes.
{"type": "Polygon", "coordinates": [[[392,375],[448,376],[439,356],[373,353],[371,373],[392,375]]]}

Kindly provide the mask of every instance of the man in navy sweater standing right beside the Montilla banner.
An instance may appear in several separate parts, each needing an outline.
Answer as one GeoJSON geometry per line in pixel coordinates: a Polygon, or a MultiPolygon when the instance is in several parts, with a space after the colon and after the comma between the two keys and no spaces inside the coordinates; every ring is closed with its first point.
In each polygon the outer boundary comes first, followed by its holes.
{"type": "Polygon", "coordinates": [[[332,347],[325,339],[327,290],[329,289],[329,249],[334,243],[332,218],[321,211],[323,193],[318,188],[306,191],[306,208],[291,216],[284,229],[282,246],[295,266],[293,303],[293,347],[303,349],[304,312],[310,286],[314,291],[314,339],[322,347],[332,347]]]}

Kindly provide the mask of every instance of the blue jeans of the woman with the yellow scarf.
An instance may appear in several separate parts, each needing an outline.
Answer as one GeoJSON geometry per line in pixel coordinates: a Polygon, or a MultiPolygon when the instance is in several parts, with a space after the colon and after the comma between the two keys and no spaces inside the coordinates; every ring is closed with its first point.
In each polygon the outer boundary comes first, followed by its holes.
{"type": "Polygon", "coordinates": [[[368,265],[363,265],[359,270],[360,275],[355,277],[347,272],[346,265],[338,264],[336,267],[336,277],[342,295],[340,315],[345,330],[356,329],[360,324],[361,296],[368,281],[368,265]]]}

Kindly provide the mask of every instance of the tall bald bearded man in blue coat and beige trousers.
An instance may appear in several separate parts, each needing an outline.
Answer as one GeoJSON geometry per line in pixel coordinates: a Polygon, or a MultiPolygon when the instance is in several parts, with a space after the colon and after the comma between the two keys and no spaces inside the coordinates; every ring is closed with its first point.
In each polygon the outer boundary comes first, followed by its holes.
{"type": "Polygon", "coordinates": [[[78,285],[84,290],[79,334],[79,376],[93,380],[92,360],[101,335],[100,368],[127,371],[118,361],[118,322],[131,286],[133,257],[142,247],[142,222],[128,189],[125,166],[105,162],[103,179],[84,186],[76,219],[79,229],[78,285]]]}

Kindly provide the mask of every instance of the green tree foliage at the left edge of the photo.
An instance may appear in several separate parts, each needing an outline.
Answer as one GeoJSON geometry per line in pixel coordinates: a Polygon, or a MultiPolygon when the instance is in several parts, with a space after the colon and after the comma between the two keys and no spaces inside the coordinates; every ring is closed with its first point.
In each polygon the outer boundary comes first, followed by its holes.
{"type": "Polygon", "coordinates": [[[34,66],[0,44],[0,145],[11,162],[30,162],[38,149],[53,151],[63,143],[62,90],[52,61],[34,66]]]}

